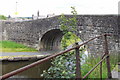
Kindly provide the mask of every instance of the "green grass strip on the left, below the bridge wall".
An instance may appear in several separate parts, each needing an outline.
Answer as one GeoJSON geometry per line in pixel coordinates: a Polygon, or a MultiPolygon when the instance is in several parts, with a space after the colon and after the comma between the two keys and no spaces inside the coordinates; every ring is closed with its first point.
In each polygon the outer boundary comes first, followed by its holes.
{"type": "Polygon", "coordinates": [[[0,41],[0,51],[2,52],[33,52],[37,51],[13,41],[0,41]]]}

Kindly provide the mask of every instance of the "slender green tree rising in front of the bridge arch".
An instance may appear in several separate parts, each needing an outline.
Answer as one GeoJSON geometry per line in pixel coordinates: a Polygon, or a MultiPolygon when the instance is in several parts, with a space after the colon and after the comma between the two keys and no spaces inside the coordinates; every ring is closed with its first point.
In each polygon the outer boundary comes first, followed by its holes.
{"type": "MultiPolygon", "coordinates": [[[[61,15],[60,19],[60,29],[63,31],[63,34],[65,35],[66,38],[69,38],[69,33],[72,32],[74,34],[77,34],[77,11],[75,10],[75,7],[71,7],[72,11],[71,13],[73,14],[72,18],[66,18],[64,14],[61,15]]],[[[73,35],[74,36],[74,42],[77,42],[78,35],[73,35]]]]}

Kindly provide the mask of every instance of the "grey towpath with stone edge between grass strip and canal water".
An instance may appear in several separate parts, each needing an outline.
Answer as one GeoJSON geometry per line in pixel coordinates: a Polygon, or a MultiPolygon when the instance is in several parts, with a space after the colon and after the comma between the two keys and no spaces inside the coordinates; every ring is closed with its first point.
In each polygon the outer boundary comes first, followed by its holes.
{"type": "Polygon", "coordinates": [[[1,52],[0,61],[39,60],[55,54],[55,51],[41,52],[1,52]]]}

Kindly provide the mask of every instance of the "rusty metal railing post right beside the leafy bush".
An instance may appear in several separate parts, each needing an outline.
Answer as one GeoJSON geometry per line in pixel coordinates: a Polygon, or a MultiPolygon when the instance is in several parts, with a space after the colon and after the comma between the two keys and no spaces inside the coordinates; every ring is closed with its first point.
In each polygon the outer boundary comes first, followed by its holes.
{"type": "MultiPolygon", "coordinates": [[[[75,44],[76,46],[78,46],[78,43],[75,44]]],[[[75,51],[76,51],[76,79],[82,80],[79,48],[76,48],[75,51]]]]}

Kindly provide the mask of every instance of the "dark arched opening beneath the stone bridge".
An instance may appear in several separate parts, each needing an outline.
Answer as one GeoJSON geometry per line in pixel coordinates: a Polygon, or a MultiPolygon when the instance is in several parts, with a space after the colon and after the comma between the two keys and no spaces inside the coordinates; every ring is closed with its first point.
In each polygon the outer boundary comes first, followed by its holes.
{"type": "Polygon", "coordinates": [[[40,40],[40,50],[59,50],[62,36],[60,29],[46,32],[40,40]]]}

